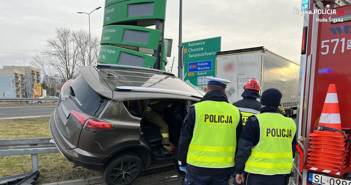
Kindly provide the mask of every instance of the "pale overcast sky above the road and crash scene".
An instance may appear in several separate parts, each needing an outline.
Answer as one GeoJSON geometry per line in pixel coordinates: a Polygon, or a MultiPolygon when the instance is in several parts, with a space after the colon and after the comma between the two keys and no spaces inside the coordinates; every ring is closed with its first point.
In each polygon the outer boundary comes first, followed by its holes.
{"type": "MultiPolygon", "coordinates": [[[[101,36],[105,0],[0,0],[0,68],[29,65],[55,27],[101,36]],[[25,61],[23,61],[23,59],[25,61]]],[[[294,15],[301,0],[183,0],[183,42],[221,36],[221,51],[264,46],[300,62],[303,17],[294,15]]],[[[165,38],[173,39],[173,73],[178,66],[179,0],[168,0],[165,38]]]]}

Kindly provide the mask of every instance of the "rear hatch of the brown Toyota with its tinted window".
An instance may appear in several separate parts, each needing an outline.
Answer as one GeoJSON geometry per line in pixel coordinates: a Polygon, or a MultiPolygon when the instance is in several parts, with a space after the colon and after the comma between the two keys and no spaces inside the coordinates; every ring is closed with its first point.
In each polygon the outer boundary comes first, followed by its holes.
{"type": "Polygon", "coordinates": [[[94,67],[80,67],[81,75],[62,90],[55,109],[55,129],[68,148],[78,146],[87,119],[98,117],[112,99],[112,90],[94,67]]]}

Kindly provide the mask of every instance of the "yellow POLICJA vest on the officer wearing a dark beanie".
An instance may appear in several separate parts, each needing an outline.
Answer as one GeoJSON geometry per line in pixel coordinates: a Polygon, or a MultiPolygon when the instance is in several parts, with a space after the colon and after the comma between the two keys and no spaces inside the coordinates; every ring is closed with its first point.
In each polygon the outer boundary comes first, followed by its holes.
{"type": "Polygon", "coordinates": [[[260,141],[251,148],[245,171],[257,174],[287,174],[292,168],[291,143],[296,125],[278,113],[255,115],[260,126],[260,141]]]}

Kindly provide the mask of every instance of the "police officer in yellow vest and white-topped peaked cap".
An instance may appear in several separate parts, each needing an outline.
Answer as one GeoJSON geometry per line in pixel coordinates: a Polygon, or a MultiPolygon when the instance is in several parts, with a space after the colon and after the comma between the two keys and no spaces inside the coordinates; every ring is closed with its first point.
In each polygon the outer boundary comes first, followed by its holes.
{"type": "Polygon", "coordinates": [[[234,172],[241,114],[225,95],[230,81],[207,79],[207,93],[191,106],[180,134],[178,164],[187,172],[184,185],[228,185],[234,172]]]}

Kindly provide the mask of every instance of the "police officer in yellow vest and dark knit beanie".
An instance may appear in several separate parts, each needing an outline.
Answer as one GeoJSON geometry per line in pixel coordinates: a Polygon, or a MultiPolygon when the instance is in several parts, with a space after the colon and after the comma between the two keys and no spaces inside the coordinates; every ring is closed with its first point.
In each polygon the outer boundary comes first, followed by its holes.
{"type": "Polygon", "coordinates": [[[261,114],[246,121],[235,158],[237,183],[246,185],[283,185],[290,174],[295,154],[296,125],[294,120],[278,112],[282,93],[275,88],[261,95],[261,114]]]}

